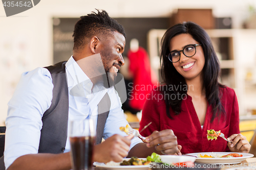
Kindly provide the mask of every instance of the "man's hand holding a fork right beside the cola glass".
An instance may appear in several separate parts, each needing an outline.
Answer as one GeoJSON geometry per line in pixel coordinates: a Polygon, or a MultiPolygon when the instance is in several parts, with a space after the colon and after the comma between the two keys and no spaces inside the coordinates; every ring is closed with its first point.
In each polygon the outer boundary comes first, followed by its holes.
{"type": "Polygon", "coordinates": [[[94,146],[93,161],[97,162],[120,162],[128,155],[131,139],[133,135],[123,137],[121,135],[113,135],[94,146]]]}

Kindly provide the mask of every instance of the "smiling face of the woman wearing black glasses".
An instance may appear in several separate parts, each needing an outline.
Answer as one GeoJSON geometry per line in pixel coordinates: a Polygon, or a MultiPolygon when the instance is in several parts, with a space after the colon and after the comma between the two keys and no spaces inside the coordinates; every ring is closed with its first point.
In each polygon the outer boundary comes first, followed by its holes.
{"type": "MultiPolygon", "coordinates": [[[[188,44],[199,44],[190,34],[180,34],[170,40],[170,52],[183,50],[188,44]]],[[[186,57],[180,52],[180,60],[173,63],[176,70],[186,80],[201,78],[204,67],[204,52],[201,45],[196,46],[196,54],[193,57],[186,57]]]]}

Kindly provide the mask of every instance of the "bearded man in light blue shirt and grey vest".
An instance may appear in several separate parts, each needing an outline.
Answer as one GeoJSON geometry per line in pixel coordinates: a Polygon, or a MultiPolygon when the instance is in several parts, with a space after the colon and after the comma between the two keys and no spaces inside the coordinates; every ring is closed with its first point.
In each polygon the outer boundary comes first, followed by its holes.
{"type": "Polygon", "coordinates": [[[124,64],[123,27],[105,11],[98,11],[81,17],[73,37],[69,61],[22,75],[8,103],[6,168],[71,169],[67,129],[72,118],[91,118],[95,123],[98,144],[93,161],[179,153],[172,130],[154,132],[146,137],[147,143],[132,135],[124,137],[119,130],[127,124],[113,88],[124,64]],[[102,111],[100,105],[109,109],[102,111]],[[105,141],[100,143],[101,137],[105,141]]]}

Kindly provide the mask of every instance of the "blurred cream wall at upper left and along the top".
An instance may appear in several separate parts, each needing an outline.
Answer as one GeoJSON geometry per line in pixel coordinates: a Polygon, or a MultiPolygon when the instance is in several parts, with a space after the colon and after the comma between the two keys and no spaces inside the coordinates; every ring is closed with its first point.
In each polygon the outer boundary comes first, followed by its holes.
{"type": "Polygon", "coordinates": [[[0,5],[0,125],[7,115],[20,74],[53,64],[52,17],[79,17],[104,9],[111,17],[167,17],[177,8],[212,8],[215,17],[232,17],[233,28],[242,28],[253,0],[42,0],[34,8],[6,17],[0,5]]]}

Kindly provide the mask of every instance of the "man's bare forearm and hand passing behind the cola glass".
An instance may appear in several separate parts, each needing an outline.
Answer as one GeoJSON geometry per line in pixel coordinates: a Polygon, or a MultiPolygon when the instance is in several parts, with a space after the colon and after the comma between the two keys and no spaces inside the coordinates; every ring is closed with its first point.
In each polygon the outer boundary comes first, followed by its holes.
{"type": "MultiPolygon", "coordinates": [[[[113,135],[101,144],[94,146],[93,161],[120,162],[126,157],[131,144],[132,135],[123,137],[113,135]]],[[[61,154],[27,154],[18,157],[7,170],[65,170],[71,169],[70,152],[61,154]]]]}

